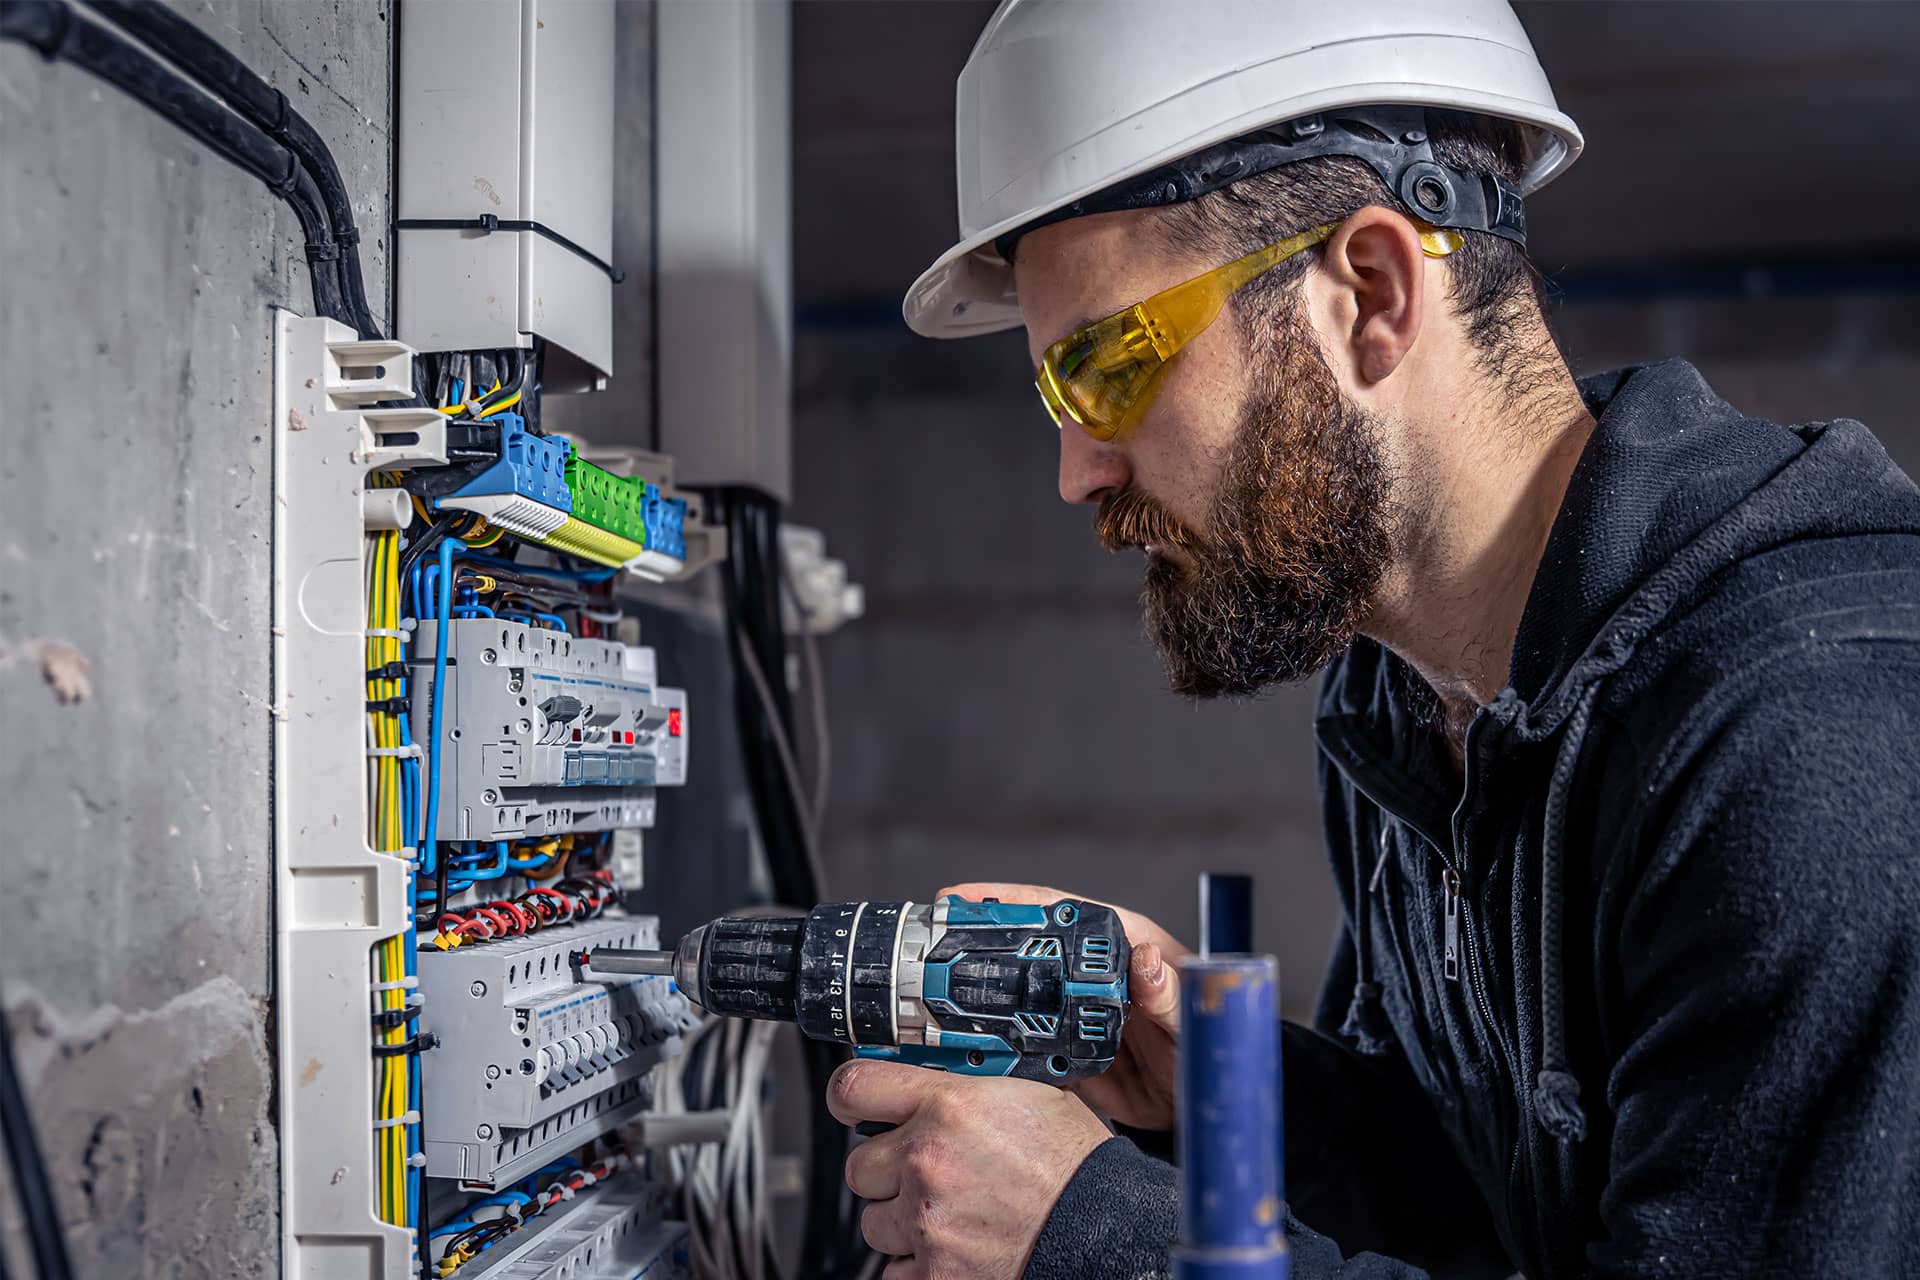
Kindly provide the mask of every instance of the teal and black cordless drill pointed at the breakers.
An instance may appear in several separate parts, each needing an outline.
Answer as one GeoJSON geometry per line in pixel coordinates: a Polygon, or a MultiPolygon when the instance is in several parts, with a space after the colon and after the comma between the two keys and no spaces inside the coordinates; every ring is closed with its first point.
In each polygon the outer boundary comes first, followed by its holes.
{"type": "Polygon", "coordinates": [[[1119,1052],[1133,950],[1098,902],[828,902],[722,915],[672,952],[597,948],[597,973],[670,975],[710,1013],[799,1023],[860,1057],[1062,1084],[1119,1052]]]}

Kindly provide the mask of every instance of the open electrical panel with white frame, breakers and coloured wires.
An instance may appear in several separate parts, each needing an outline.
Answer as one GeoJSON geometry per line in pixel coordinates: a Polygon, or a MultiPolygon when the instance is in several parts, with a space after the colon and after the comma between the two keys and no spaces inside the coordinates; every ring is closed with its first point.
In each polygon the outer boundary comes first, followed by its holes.
{"type": "MultiPolygon", "coordinates": [[[[685,1228],[662,1217],[636,1174],[616,1174],[626,1157],[563,1173],[605,1186],[561,1209],[574,1190],[555,1182],[551,1197],[536,1196],[526,1226],[516,1201],[530,1197],[503,1190],[538,1192],[538,1178],[561,1169],[557,1153],[651,1105],[651,1069],[678,1050],[695,1015],[662,979],[588,983],[570,958],[591,946],[653,946],[657,921],[601,913],[614,898],[611,877],[605,892],[589,885],[568,898],[536,887],[497,910],[461,908],[478,927],[436,935],[434,921],[468,877],[505,873],[513,841],[566,841],[568,850],[611,841],[599,848],[612,850],[611,865],[632,885],[655,789],[685,779],[685,695],[657,683],[651,649],[453,606],[459,539],[442,541],[438,562],[424,557],[430,618],[388,618],[378,601],[382,574],[399,591],[392,558],[397,533],[415,524],[407,489],[394,484],[401,476],[415,493],[453,476],[459,486],[430,495],[432,507],[482,514],[614,574],[684,576],[724,543],[689,528],[697,499],[659,478],[614,476],[574,443],[526,432],[518,415],[470,422],[420,405],[413,368],[401,342],[359,342],[336,320],[276,315],[284,1274],[419,1274],[426,1178],[453,1194],[492,1192],[467,1211],[507,1201],[516,1226],[474,1236],[474,1222],[459,1219],[455,1242],[484,1244],[463,1245],[472,1253],[451,1263],[444,1251],[434,1274],[684,1274],[685,1228]],[[499,455],[474,474],[459,457],[472,455],[468,438],[482,432],[499,455]],[[392,779],[397,791],[382,791],[392,779]],[[394,794],[405,802],[388,814],[394,794]],[[470,852],[455,854],[459,842],[470,852]],[[495,850],[499,867],[472,850],[495,850]],[[426,902],[420,894],[432,894],[428,917],[417,917],[426,912],[415,906],[426,902]],[[499,921],[503,936],[480,917],[499,921]]],[[[513,572],[536,568],[511,562],[513,572]]],[[[461,572],[507,574],[484,564],[461,572]]],[[[513,873],[530,875],[524,867],[513,873]]]]}

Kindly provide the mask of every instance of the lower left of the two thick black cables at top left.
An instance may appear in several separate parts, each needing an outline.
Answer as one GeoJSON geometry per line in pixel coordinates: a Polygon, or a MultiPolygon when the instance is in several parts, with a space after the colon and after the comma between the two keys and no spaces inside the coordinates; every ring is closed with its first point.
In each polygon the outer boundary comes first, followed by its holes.
{"type": "Polygon", "coordinates": [[[69,61],[100,77],[265,182],[300,217],[300,230],[307,240],[313,309],[344,324],[355,322],[340,297],[340,249],[332,240],[326,203],[294,152],[132,42],[98,23],[77,19],[65,0],[6,0],[0,4],[0,38],[19,40],[48,61],[69,61]]]}

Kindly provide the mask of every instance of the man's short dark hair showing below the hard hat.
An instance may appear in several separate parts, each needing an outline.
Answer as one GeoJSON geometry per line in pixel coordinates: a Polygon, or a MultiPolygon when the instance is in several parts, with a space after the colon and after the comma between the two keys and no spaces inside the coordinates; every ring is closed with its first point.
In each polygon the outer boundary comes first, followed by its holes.
{"type": "MultiPolygon", "coordinates": [[[[1519,182],[1526,167],[1526,136],[1519,125],[1488,115],[1428,109],[1434,159],[1471,175],[1519,182]]],[[[1158,211],[1173,244],[1194,255],[1233,261],[1323,223],[1338,223],[1367,205],[1417,217],[1363,161],[1321,155],[1269,169],[1198,200],[1158,211]]],[[[1546,278],[1519,244],[1484,230],[1463,230],[1463,246],[1446,259],[1453,309],[1480,367],[1524,395],[1563,367],[1548,324],[1546,278]]],[[[1267,273],[1236,294],[1248,315],[1271,320],[1286,305],[1292,282],[1317,261],[1319,249],[1267,273]]]]}

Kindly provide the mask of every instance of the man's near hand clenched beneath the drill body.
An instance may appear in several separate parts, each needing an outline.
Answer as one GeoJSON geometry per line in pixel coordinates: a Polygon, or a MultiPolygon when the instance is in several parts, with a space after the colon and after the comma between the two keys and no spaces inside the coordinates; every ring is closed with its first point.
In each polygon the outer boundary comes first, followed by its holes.
{"type": "Polygon", "coordinates": [[[1016,1280],[1060,1192],[1112,1134],[1050,1084],[851,1061],[828,1084],[843,1125],[893,1132],[847,1157],[887,1280],[1016,1280]]]}

